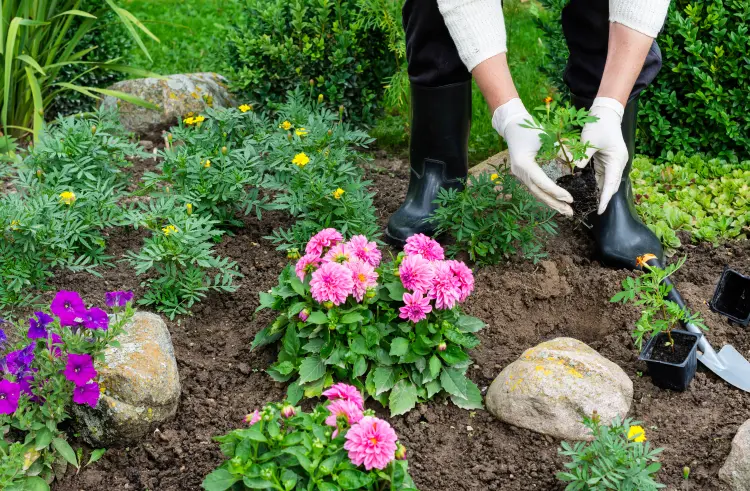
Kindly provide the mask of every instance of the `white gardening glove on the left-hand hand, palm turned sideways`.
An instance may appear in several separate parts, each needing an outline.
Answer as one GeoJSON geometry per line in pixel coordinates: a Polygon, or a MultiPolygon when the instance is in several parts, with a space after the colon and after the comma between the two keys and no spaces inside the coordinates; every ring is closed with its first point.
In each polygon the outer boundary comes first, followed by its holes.
{"type": "Polygon", "coordinates": [[[536,154],[542,146],[540,130],[522,128],[526,121],[533,121],[521,99],[511,99],[495,110],[492,126],[505,138],[510,154],[510,171],[539,201],[563,215],[573,216],[569,192],[552,182],[536,163],[536,154]]]}

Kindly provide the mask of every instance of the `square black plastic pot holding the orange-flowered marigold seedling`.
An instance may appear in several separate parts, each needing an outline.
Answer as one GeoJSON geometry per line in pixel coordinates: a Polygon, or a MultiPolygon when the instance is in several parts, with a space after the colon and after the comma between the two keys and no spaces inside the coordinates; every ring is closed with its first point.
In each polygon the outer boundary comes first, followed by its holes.
{"type": "Polygon", "coordinates": [[[646,362],[654,385],[676,391],[688,388],[698,368],[700,338],[701,334],[672,331],[674,351],[671,346],[666,346],[669,341],[666,333],[660,333],[649,340],[638,359],[646,362]]]}

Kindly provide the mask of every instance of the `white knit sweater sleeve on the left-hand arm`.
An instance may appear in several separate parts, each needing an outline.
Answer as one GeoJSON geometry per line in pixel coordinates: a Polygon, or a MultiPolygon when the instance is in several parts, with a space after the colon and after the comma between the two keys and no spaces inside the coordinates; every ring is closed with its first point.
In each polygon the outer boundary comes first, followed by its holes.
{"type": "Polygon", "coordinates": [[[472,71],[484,60],[507,51],[501,0],[437,0],[458,55],[472,71]]]}

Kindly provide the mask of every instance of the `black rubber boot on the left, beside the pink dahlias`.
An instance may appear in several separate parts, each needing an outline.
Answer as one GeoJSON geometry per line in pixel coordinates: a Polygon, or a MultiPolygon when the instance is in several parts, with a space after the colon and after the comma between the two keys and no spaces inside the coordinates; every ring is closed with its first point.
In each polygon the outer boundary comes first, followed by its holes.
{"type": "Polygon", "coordinates": [[[471,81],[442,87],[411,85],[411,175],[406,199],[391,216],[386,239],[403,246],[414,234],[434,235],[427,218],[440,188],[463,188],[469,171],[471,81]]]}

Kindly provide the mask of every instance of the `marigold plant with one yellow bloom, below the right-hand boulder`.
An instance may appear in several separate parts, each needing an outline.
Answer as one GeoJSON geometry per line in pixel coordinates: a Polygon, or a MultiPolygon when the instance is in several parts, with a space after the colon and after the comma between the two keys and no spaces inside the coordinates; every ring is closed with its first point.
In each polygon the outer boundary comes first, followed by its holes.
{"type": "Polygon", "coordinates": [[[560,455],[570,458],[557,479],[568,483],[565,491],[653,491],[665,486],[656,481],[662,449],[652,449],[638,421],[616,418],[603,424],[594,412],[583,424],[594,440],[562,442],[560,455]]]}

